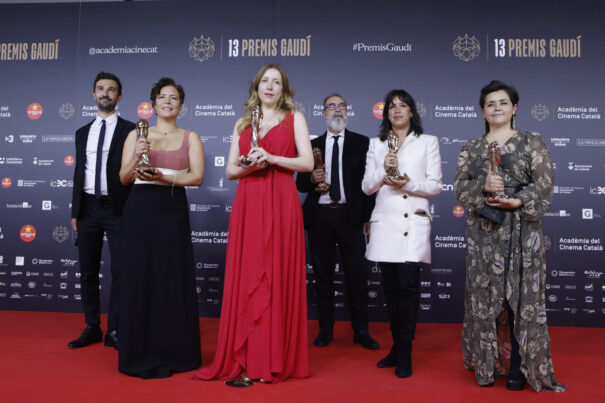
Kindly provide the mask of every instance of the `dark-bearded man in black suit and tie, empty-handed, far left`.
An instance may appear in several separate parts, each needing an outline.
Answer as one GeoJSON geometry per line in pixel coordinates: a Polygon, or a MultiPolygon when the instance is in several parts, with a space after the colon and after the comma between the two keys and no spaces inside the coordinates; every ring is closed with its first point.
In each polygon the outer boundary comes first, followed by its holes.
{"type": "Polygon", "coordinates": [[[111,290],[105,345],[118,347],[118,295],[120,216],[130,188],[120,182],[122,148],[132,122],[116,114],[122,84],[111,73],[100,72],[92,95],[97,103],[95,120],[76,131],[76,169],[71,225],[77,234],[82,307],[86,329],[68,348],[85,347],[103,339],[100,327],[99,269],[103,235],[109,240],[111,290]]]}

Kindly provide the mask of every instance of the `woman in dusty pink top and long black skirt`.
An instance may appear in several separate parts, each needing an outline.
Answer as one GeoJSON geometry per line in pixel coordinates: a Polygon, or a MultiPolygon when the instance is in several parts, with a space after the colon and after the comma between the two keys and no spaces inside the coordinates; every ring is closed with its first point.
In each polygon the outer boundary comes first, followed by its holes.
{"type": "Polygon", "coordinates": [[[120,179],[134,186],[122,218],[119,370],[165,378],[201,364],[193,247],[185,186],[204,176],[199,135],[178,127],[185,93],[162,78],[151,90],[157,124],[148,140],[131,132],[120,179]],[[147,153],[153,171],[136,170],[147,153]]]}

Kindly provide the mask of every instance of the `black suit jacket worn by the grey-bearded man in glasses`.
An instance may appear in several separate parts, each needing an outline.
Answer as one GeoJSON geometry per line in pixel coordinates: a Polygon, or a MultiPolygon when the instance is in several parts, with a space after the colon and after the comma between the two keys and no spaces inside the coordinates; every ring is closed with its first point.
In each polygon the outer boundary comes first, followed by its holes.
{"type": "MultiPolygon", "coordinates": [[[[325,155],[327,132],[311,141],[312,147],[321,150],[325,155]]],[[[368,222],[374,208],[375,196],[366,196],[361,190],[361,181],[366,167],[366,154],[370,139],[361,134],[345,129],[345,138],[342,151],[342,181],[347,199],[347,212],[351,224],[361,227],[368,222]]],[[[325,162],[325,158],[323,158],[325,162]]],[[[299,172],[296,177],[296,187],[299,192],[307,193],[303,203],[303,216],[305,228],[309,228],[315,218],[317,202],[321,193],[315,191],[315,184],[311,182],[311,172],[299,172]]]]}

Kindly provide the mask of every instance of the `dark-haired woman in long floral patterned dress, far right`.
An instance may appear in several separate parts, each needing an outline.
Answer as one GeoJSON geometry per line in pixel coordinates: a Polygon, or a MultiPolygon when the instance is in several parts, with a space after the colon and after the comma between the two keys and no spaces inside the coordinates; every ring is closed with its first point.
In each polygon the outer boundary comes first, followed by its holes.
{"type": "Polygon", "coordinates": [[[454,187],[468,210],[464,366],[475,371],[480,386],[507,375],[510,390],[527,382],[536,391],[563,392],[546,326],[541,223],[554,172],[542,137],[515,130],[518,102],[511,86],[485,86],[479,99],[485,135],[466,143],[458,159],[454,187]],[[500,149],[500,175],[490,167],[492,142],[500,149]],[[497,192],[507,197],[494,197],[497,192]]]}

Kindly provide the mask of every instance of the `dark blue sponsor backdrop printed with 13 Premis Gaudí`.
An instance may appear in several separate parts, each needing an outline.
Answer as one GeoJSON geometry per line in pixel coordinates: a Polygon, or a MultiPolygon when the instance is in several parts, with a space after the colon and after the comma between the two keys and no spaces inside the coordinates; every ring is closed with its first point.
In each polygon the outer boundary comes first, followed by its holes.
{"type": "MultiPolygon", "coordinates": [[[[549,323],[605,326],[604,6],[356,3],[0,6],[0,309],[80,310],[69,224],[74,132],[96,114],[93,79],[103,70],[121,78],[119,113],[131,121],[153,123],[149,92],[160,77],[185,88],[179,124],[197,131],[206,149],[204,183],[187,191],[200,312],[218,316],[237,187],[225,177],[230,134],[250,80],[277,62],[313,135],[325,130],[328,93],[348,101],[351,130],[373,137],[385,94],[404,88],[417,100],[426,132],[440,138],[443,193],[431,199],[433,264],[423,269],[421,288],[420,320],[428,322],[462,320],[466,212],[452,183],[460,148],[482,135],[479,90],[492,79],[515,85],[517,127],[540,132],[556,163],[554,201],[543,219],[549,323]]],[[[384,320],[379,269],[369,267],[371,318],[384,320]]],[[[310,262],[307,278],[314,318],[310,262]]],[[[338,318],[346,319],[340,271],[336,282],[338,318]]]]}

